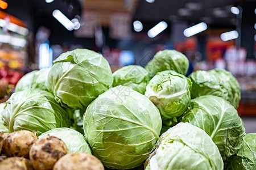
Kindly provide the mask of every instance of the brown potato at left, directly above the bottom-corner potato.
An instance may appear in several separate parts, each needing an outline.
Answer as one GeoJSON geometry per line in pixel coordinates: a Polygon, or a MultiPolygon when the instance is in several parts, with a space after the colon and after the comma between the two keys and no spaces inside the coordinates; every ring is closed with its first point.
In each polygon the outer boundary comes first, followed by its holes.
{"type": "Polygon", "coordinates": [[[38,141],[38,137],[31,131],[14,131],[3,139],[3,149],[7,156],[28,158],[30,146],[36,141],[38,141]]]}

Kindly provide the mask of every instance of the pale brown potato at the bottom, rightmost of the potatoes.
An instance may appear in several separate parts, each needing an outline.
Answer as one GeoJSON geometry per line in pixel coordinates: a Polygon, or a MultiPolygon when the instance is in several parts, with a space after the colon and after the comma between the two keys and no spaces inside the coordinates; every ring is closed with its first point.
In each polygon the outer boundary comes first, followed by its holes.
{"type": "Polygon", "coordinates": [[[103,170],[104,166],[93,155],[86,152],[67,154],[59,159],[53,170],[103,170]]]}

